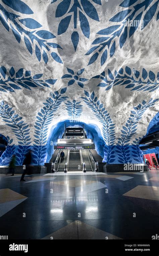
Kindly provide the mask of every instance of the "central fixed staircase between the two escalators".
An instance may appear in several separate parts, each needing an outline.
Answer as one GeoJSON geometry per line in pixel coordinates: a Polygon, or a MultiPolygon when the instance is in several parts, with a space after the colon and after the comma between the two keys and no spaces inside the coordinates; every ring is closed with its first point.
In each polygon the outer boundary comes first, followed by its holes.
{"type": "Polygon", "coordinates": [[[68,171],[82,171],[81,157],[79,150],[70,150],[68,171]]]}

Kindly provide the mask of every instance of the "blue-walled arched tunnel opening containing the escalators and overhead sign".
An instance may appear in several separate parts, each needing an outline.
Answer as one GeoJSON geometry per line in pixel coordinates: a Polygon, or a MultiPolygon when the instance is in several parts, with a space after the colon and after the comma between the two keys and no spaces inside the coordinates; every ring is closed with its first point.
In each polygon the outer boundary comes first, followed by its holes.
{"type": "Polygon", "coordinates": [[[69,170],[82,169],[84,162],[87,171],[92,171],[94,162],[99,162],[100,164],[104,158],[103,149],[105,143],[100,129],[95,124],[86,124],[76,120],[64,120],[59,122],[51,128],[47,145],[47,163],[59,163],[59,154],[61,154],[62,150],[65,154],[63,159],[64,163],[60,164],[61,169],[58,166],[58,171],[64,171],[65,163],[68,158],[69,170]],[[63,143],[67,144],[62,145],[63,143]],[[59,152],[60,150],[61,152],[59,152]],[[68,154],[69,156],[67,156],[68,154]],[[75,160],[76,165],[74,167],[75,160]]]}

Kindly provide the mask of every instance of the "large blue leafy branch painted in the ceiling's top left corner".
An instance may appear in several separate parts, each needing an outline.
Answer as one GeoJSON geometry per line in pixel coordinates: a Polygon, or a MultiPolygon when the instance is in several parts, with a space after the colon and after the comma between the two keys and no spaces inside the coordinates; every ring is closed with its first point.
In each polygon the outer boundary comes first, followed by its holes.
{"type": "MultiPolygon", "coordinates": [[[[2,2],[18,13],[20,12],[28,15],[33,14],[32,9],[21,0],[2,0],[2,2]]],[[[54,34],[47,30],[39,30],[42,25],[36,20],[32,18],[19,19],[19,15],[7,11],[2,4],[0,4],[0,10],[2,11],[2,15],[0,14],[0,21],[5,29],[8,32],[9,29],[12,30],[18,43],[20,43],[21,38],[24,36],[24,43],[29,53],[32,55],[33,51],[35,51],[39,62],[43,58],[45,64],[47,64],[48,52],[50,52],[51,48],[62,49],[59,44],[50,42],[49,39],[54,39],[56,37],[54,34]]],[[[52,52],[51,56],[56,62],[63,64],[56,52],[52,52]]]]}

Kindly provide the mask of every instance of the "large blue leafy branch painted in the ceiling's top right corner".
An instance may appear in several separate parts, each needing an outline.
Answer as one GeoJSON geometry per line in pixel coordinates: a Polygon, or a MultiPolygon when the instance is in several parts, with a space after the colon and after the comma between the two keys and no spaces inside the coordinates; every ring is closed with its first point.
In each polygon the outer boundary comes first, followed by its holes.
{"type": "MultiPolygon", "coordinates": [[[[123,7],[123,10],[115,14],[109,20],[113,23],[113,25],[97,32],[97,34],[102,35],[102,37],[96,38],[92,42],[92,45],[95,46],[91,47],[91,49],[89,49],[89,51],[86,53],[86,55],[91,55],[95,52],[90,58],[88,65],[94,63],[97,60],[99,54],[104,50],[100,60],[102,66],[106,62],[108,54],[110,58],[114,55],[116,51],[116,45],[119,44],[120,49],[123,47],[126,39],[128,37],[130,38],[139,27],[139,23],[137,23],[135,26],[131,26],[128,35],[128,27],[126,26],[128,19],[130,21],[133,20],[133,22],[136,20],[142,22],[143,28],[141,28],[141,30],[144,29],[156,13],[158,0],[145,0],[143,2],[140,0],[124,0],[119,6],[123,7]],[[153,5],[149,8],[152,2],[153,5]],[[140,13],[139,10],[141,10],[140,13]],[[143,15],[144,17],[142,19],[143,15]],[[118,38],[119,43],[117,41],[118,38]],[[109,53],[108,50],[110,50],[109,53]]],[[[158,20],[159,13],[156,15],[156,20],[158,20]]]]}

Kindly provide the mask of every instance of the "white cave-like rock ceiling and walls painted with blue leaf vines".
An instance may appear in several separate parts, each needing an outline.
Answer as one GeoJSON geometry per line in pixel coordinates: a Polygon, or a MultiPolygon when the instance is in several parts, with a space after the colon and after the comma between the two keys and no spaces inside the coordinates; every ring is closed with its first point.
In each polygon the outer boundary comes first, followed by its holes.
{"type": "Polygon", "coordinates": [[[142,162],[138,143],[159,111],[158,8],[158,0],[2,0],[0,163],[15,153],[20,165],[32,148],[33,164],[44,164],[56,126],[76,119],[99,128],[104,162],[142,162]]]}

